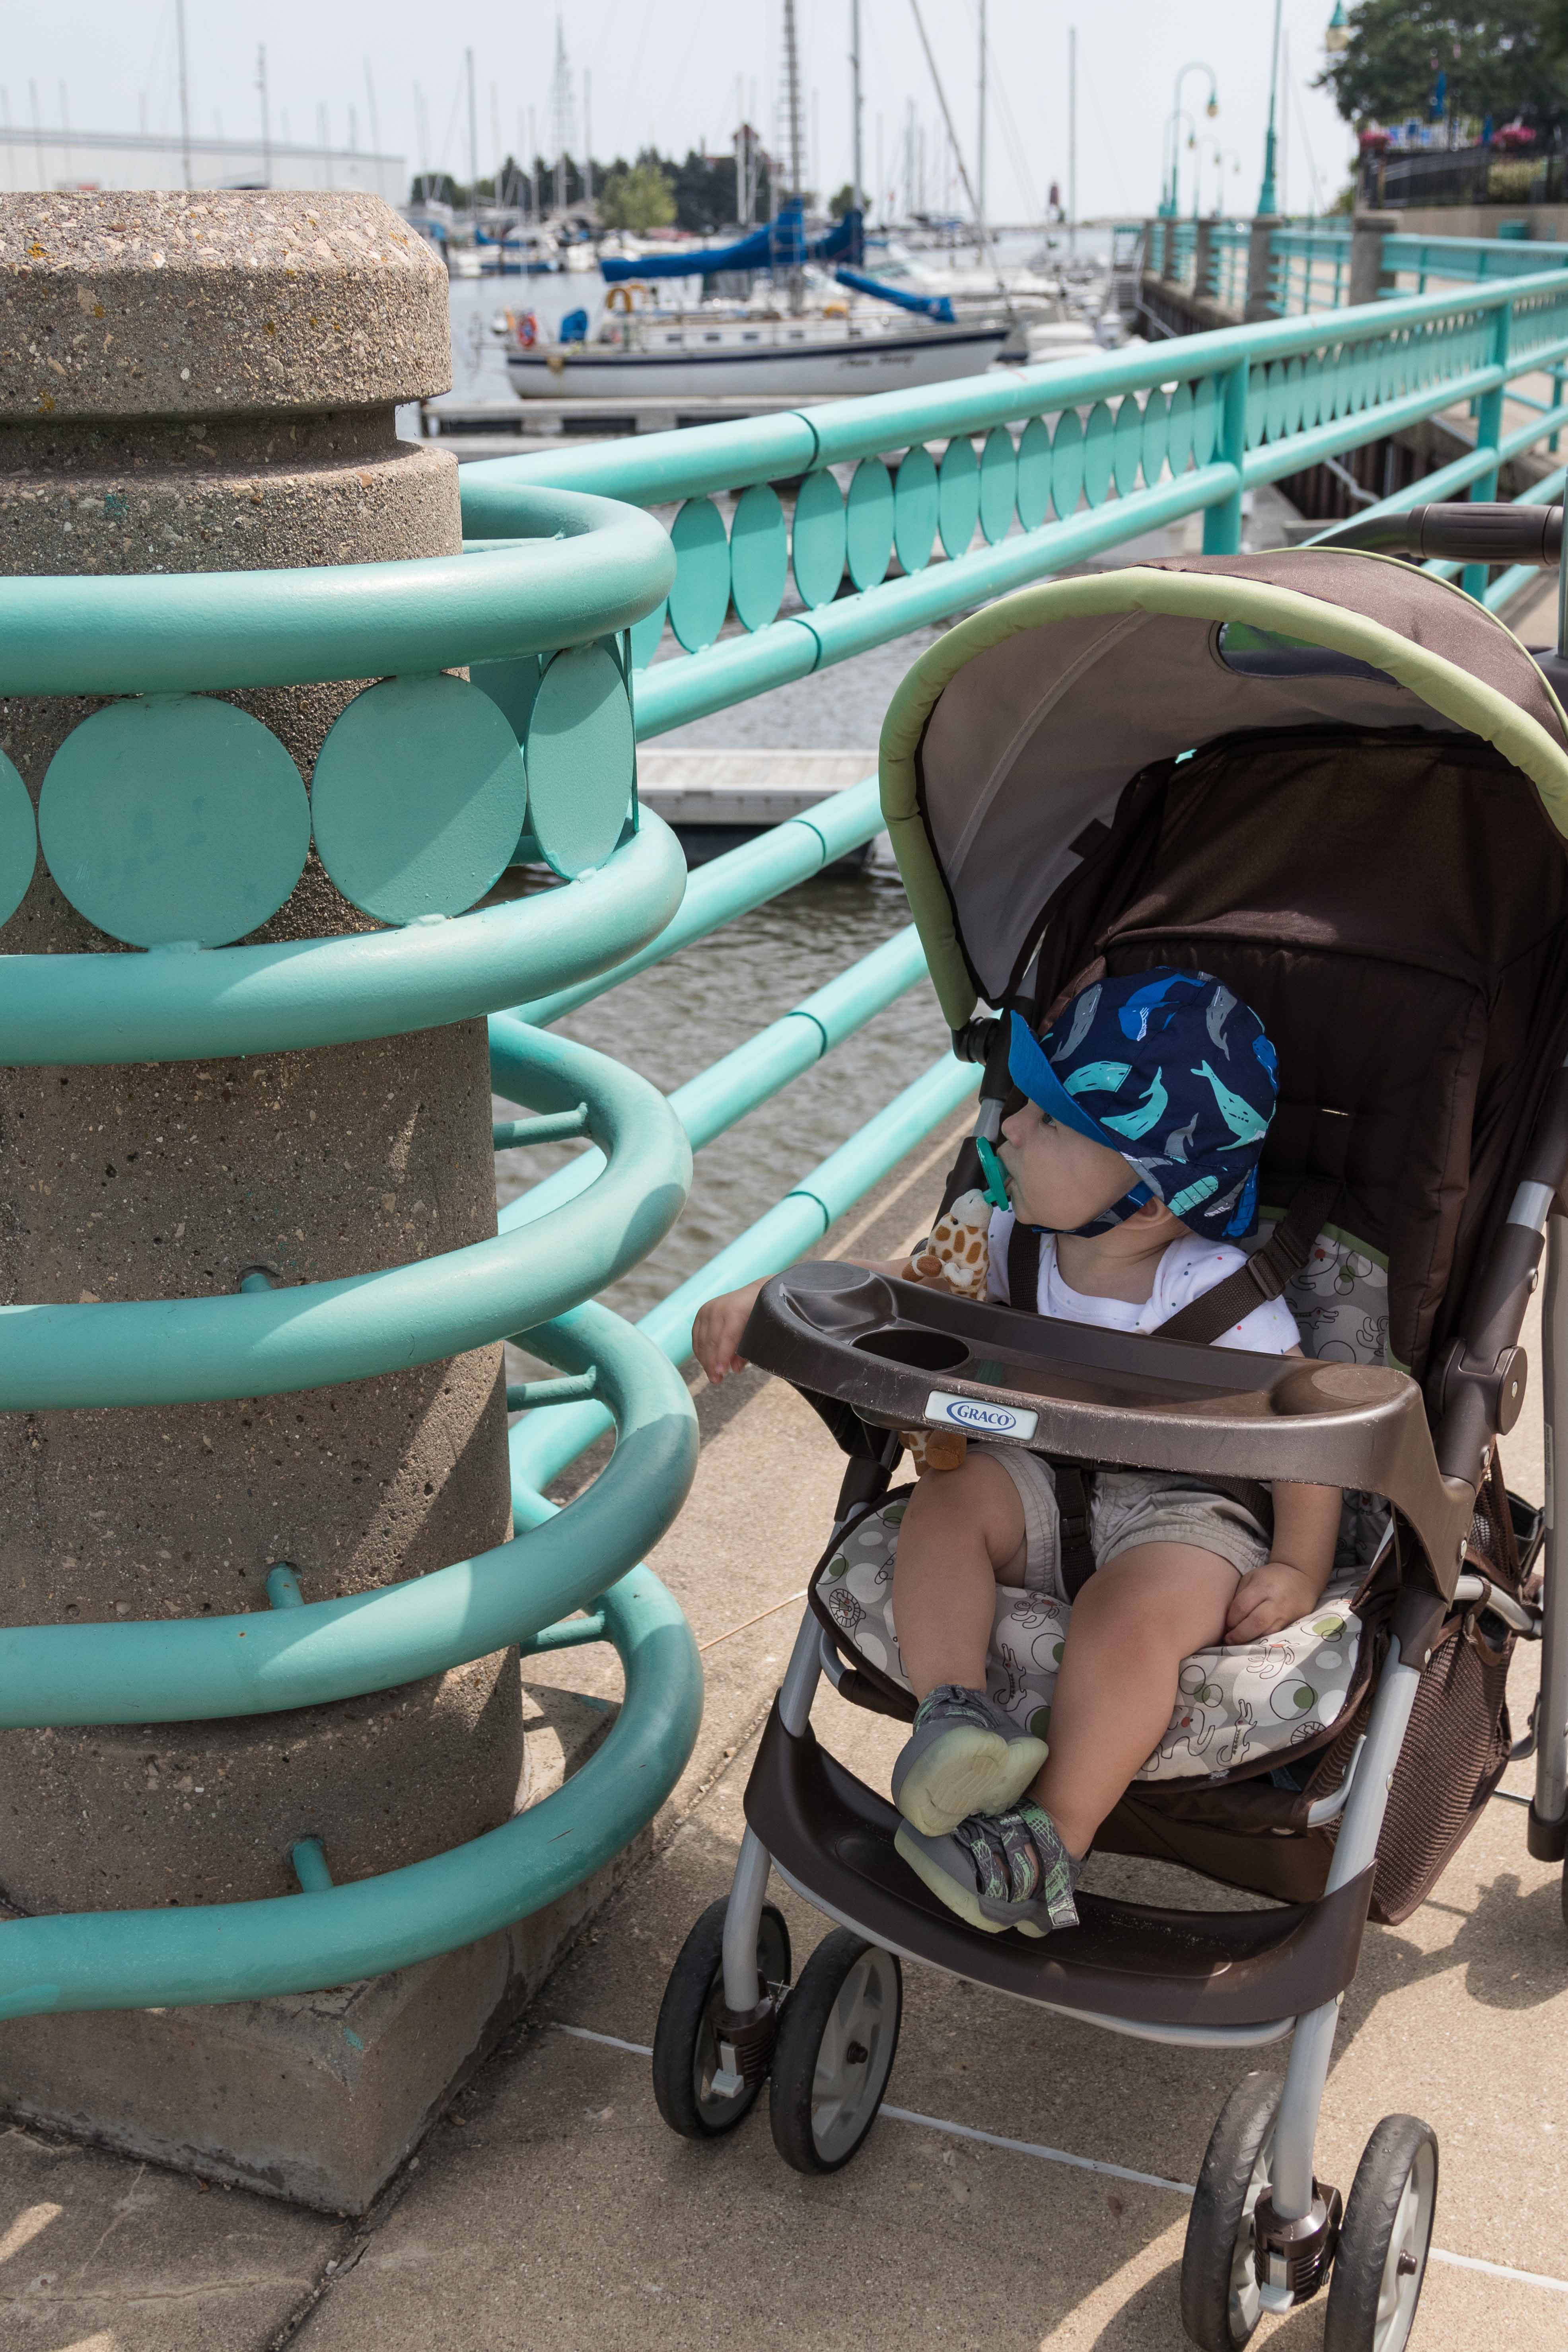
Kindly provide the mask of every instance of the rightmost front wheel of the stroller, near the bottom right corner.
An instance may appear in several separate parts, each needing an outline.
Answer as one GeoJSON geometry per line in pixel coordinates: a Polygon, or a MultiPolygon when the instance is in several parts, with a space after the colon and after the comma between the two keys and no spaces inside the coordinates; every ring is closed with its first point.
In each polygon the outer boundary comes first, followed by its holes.
{"type": "Polygon", "coordinates": [[[1324,2352],[1403,2352],[1415,2326],[1436,2211],[1436,2133],[1385,2114],[1345,2206],[1328,2279],[1324,2352]]]}

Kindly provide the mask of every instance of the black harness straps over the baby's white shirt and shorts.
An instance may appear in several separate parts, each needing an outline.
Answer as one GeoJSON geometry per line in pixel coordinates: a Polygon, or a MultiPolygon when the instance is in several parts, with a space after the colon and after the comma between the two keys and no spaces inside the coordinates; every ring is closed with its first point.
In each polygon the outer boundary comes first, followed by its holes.
{"type": "MultiPolygon", "coordinates": [[[[1312,1244],[1328,1223],[1338,1197],[1338,1176],[1309,1176],[1295,1190],[1274,1232],[1253,1251],[1246,1265],[1239,1265],[1225,1282],[1215,1282],[1201,1298],[1168,1315],[1157,1327],[1159,1336],[1185,1338],[1199,1348],[1208,1348],[1232,1324],[1279,1298],[1312,1256],[1312,1244]]],[[[1011,1305],[1027,1303],[1032,1310],[1039,1301],[1039,1225],[1013,1221],[1006,1247],[1006,1294],[1011,1305]]],[[[1074,1602],[1095,1566],[1088,1522],[1088,1479],[1093,1477],[1093,1468],[1060,1456],[1046,1456],[1046,1461],[1056,1479],[1063,1585],[1067,1588],[1067,1599],[1074,1602]]],[[[1269,1526],[1272,1496],[1262,1479],[1204,1475],[1197,1484],[1211,1494],[1229,1496],[1232,1503],[1251,1510],[1260,1526],[1269,1526]]]]}

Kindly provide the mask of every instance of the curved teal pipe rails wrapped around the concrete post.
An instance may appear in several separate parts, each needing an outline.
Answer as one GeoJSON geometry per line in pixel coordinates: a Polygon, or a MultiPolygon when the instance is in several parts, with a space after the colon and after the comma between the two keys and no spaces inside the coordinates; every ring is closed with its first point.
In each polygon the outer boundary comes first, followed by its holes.
{"type": "MultiPolygon", "coordinates": [[[[456,717],[449,771],[425,760],[404,809],[433,835],[447,828],[421,915],[367,936],[261,948],[193,948],[169,936],[141,955],[0,957],[0,1061],[176,1061],[400,1035],[581,985],[646,950],[682,903],[684,861],[658,818],[635,809],[623,633],[670,583],[668,541],[644,515],[569,492],[517,494],[508,534],[505,546],[435,562],[0,583],[0,694],[167,696],[108,708],[134,708],[139,741],[176,764],[188,701],[212,689],[393,673],[400,689],[414,680],[414,706],[421,682],[433,682],[442,724],[456,717]],[[440,675],[458,663],[477,684],[440,675]],[[557,663],[562,684],[552,687],[557,663]],[[545,703],[534,771],[543,790],[569,753],[567,823],[562,809],[536,809],[529,790],[529,717],[545,703]],[[496,706],[512,720],[501,739],[496,706]],[[489,793],[491,842],[480,851],[475,774],[458,771],[465,743],[489,793]],[[595,807],[597,847],[592,826],[583,833],[583,809],[595,807]],[[562,887],[473,910],[520,835],[538,842],[550,828],[557,844],[576,842],[557,851],[562,887]]],[[[346,717],[383,691],[367,687],[346,717]]],[[[240,724],[254,729],[242,741],[261,776],[263,729],[240,724]]],[[[66,762],[89,797],[94,741],[103,736],[85,736],[66,762]]],[[[226,816],[244,802],[249,774],[226,776],[226,816]]],[[[56,835],[61,826],[52,776],[40,795],[45,854],[49,826],[56,835]]],[[[320,776],[322,762],[317,786],[320,776]]],[[[0,896],[9,891],[9,903],[33,873],[31,823],[14,771],[0,771],[0,896]]],[[[374,842],[364,828],[353,837],[353,795],[339,840],[343,870],[364,873],[374,842]]],[[[174,849],[183,868],[172,880],[183,877],[188,896],[233,898],[216,833],[205,847],[188,835],[174,849]]],[[[92,896],[89,844],[75,863],[49,863],[68,898],[92,896]]],[[[179,931],[176,887],[169,903],[179,931]]],[[[520,1534],[475,1559],[336,1602],[301,1602],[280,1564],[270,1609],[7,1628],[0,1726],[275,1712],[390,1689],[512,1642],[536,1651],[607,1639],[625,1668],[609,1738],[543,1804],[404,1870],[331,1886],[317,1858],[299,1851],[310,1891],[296,1896],[12,1919],[0,1936],[0,2016],[233,2002],[407,1966],[576,1886],[675,1785],[696,1740],[701,1665],[679,1609],[639,1559],[691,1484],[696,1421],[668,1357],[583,1301],[675,1223],[691,1148],[646,1080],[515,1018],[496,1025],[494,1082],[538,1115],[508,1122],[503,1141],[583,1134],[597,1145],[581,1192],[489,1242],[346,1282],[273,1289],[252,1277],[228,1298],[5,1308],[0,1409],[275,1395],[527,1336],[564,1378],[510,1390],[508,1404],[595,1397],[618,1432],[604,1472],[564,1510],[545,1503],[520,1461],[520,1432],[541,1418],[529,1411],[512,1437],[520,1534]],[[581,1609],[588,1616],[574,1616],[581,1609]]]]}

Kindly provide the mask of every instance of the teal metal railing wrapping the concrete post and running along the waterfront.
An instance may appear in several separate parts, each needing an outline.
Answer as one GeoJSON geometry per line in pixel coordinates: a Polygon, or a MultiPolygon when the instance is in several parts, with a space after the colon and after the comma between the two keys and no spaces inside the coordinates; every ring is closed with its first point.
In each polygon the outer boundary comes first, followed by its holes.
{"type": "MultiPolygon", "coordinates": [[[[1164,223],[1173,252],[1180,226],[1164,223]]],[[[1241,240],[1222,249],[1241,254],[1241,240]]],[[[388,1305],[423,1359],[515,1336],[562,1378],[508,1392],[520,1416],[512,1543],[353,1602],[289,1606],[280,1585],[275,1616],[14,1628],[0,1635],[0,1724],[266,1712],[512,1639],[611,1639],[625,1661],[609,1743],[487,1839],[350,1886],[324,1886],[317,1858],[301,1853],[310,1891],[273,1903],[14,1922],[0,1943],[0,2013],[308,1990],[465,1943],[614,1853],[689,1752],[701,1700],[691,1637],[637,1562],[691,1477],[693,1418],[675,1369],[691,1317],[719,1289],[811,1249],[964,1105],[978,1073],[940,1054],[639,1327],[592,1303],[679,1214],[691,1152],[922,978],[914,936],[898,934],[668,1101],[552,1037],[574,1007],[879,830],[867,779],[705,866],[682,894],[670,835],[635,807],[632,729],[646,741],[1187,515],[1204,517],[1211,550],[1237,548],[1248,487],[1443,409],[1474,405],[1476,447],[1385,506],[1467,485],[1490,496],[1500,463],[1568,423],[1563,362],[1568,270],[1547,270],[1074,367],[468,466],[463,560],[0,583],[5,694],[115,696],[153,682],[188,699],[470,666],[524,750],[520,854],[545,854],[562,875],[524,901],[355,938],[2,960],[12,1061],[329,1044],[489,1011],[496,1091],[536,1115],[498,1124],[496,1145],[578,1131],[585,1143],[508,1204],[494,1242],[449,1258],[308,1294],[2,1310],[5,1406],[197,1402],[355,1378],[386,1362],[388,1305]],[[1505,430],[1505,390],[1523,376],[1552,381],[1552,400],[1505,430]],[[668,539],[639,508],[668,517],[668,539]],[[578,691],[581,755],[562,762],[559,696],[548,727],[536,713],[567,656],[597,663],[609,703],[578,691]],[[604,743],[607,708],[621,710],[628,767],[607,769],[590,750],[604,743]],[[557,1515],[543,1486],[609,1418],[609,1468],[557,1515]]],[[[1490,602],[1512,593],[1509,579],[1490,602]]]]}

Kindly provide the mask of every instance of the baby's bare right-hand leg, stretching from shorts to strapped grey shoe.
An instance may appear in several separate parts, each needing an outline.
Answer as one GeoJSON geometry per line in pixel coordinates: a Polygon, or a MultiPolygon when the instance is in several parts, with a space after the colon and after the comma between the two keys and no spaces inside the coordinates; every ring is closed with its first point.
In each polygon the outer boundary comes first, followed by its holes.
{"type": "Polygon", "coordinates": [[[1234,1590],[1237,1571],[1218,1552],[1138,1543],[1079,1592],[1051,1703],[1051,1757],[1030,1790],[1067,1853],[1088,1851],[1159,1745],[1182,1658],[1220,1642],[1234,1590]]]}

